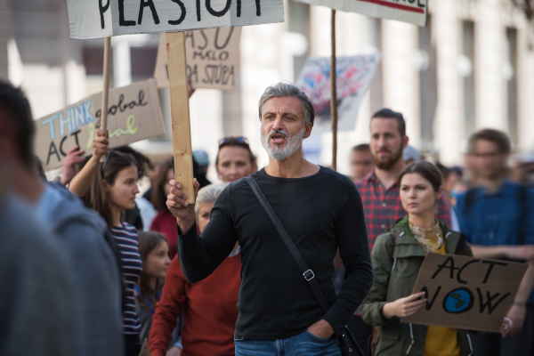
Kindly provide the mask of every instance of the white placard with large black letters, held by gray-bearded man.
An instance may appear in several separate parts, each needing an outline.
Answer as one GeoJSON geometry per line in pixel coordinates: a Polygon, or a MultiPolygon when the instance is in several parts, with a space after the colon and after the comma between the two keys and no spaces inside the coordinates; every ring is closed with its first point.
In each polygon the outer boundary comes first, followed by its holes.
{"type": "Polygon", "coordinates": [[[71,38],[284,21],[283,0],[69,0],[68,6],[71,38]]]}

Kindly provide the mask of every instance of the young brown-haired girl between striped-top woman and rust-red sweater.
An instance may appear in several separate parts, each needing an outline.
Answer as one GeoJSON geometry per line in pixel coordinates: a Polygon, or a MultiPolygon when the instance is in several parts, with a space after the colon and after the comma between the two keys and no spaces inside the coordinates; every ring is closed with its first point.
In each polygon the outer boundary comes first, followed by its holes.
{"type": "Polygon", "coordinates": [[[165,236],[158,232],[139,233],[139,253],[142,260],[142,274],[135,286],[135,306],[141,320],[141,343],[149,337],[152,315],[161,298],[161,289],[169,269],[169,247],[165,236]]]}

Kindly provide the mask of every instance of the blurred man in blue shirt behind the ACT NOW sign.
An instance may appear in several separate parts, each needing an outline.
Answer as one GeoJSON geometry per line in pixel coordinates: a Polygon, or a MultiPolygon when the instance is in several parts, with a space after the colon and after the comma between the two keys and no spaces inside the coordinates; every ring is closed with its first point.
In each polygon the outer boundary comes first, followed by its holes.
{"type": "Polygon", "coordinates": [[[511,144],[506,134],[481,130],[469,139],[476,182],[457,199],[461,231],[478,258],[530,264],[507,316],[511,337],[475,336],[476,355],[527,356],[534,353],[534,190],[506,178],[511,144]]]}

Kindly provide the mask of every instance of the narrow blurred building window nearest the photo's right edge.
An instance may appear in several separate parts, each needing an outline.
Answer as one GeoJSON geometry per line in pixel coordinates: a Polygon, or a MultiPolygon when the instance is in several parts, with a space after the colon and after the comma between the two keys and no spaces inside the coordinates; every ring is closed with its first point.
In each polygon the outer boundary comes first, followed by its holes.
{"type": "Polygon", "coordinates": [[[506,28],[505,67],[506,80],[506,116],[510,140],[518,142],[518,102],[517,102],[517,29],[506,28]]]}

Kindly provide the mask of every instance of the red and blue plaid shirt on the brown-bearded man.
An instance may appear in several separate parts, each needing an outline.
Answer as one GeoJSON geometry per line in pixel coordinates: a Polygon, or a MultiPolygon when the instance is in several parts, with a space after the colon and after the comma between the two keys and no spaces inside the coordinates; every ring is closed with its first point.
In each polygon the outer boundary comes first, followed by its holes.
{"type": "MultiPolygon", "coordinates": [[[[389,190],[384,190],[382,182],[375,171],[354,182],[360,192],[368,230],[369,247],[375,246],[375,240],[381,233],[389,230],[392,224],[407,215],[402,207],[399,184],[395,182],[389,190]]],[[[450,206],[443,194],[436,204],[436,217],[447,226],[451,226],[450,206]]]]}

